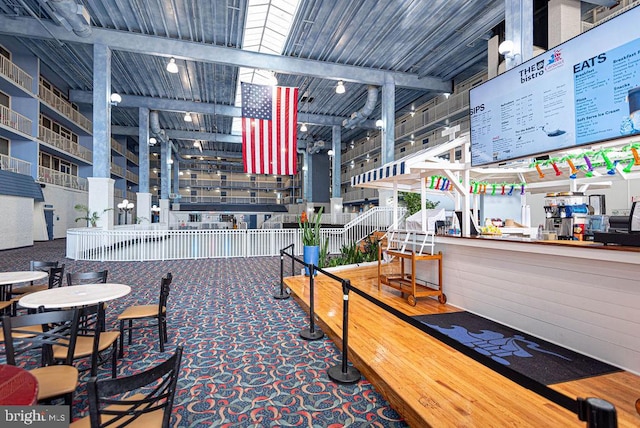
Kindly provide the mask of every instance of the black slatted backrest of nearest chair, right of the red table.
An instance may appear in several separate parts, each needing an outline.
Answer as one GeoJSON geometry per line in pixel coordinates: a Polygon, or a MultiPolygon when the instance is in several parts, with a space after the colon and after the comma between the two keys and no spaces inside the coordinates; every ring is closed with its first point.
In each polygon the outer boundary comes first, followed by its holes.
{"type": "Polygon", "coordinates": [[[125,426],[131,419],[145,413],[162,411],[162,426],[168,427],[181,360],[182,346],[178,346],[168,360],[141,373],[116,379],[89,379],[87,391],[91,426],[125,426]],[[134,391],[143,394],[144,398],[122,398],[131,397],[134,391]],[[113,405],[117,407],[106,408],[113,405]],[[101,416],[104,419],[101,420],[101,416]],[[108,418],[112,419],[107,421],[108,418]]]}

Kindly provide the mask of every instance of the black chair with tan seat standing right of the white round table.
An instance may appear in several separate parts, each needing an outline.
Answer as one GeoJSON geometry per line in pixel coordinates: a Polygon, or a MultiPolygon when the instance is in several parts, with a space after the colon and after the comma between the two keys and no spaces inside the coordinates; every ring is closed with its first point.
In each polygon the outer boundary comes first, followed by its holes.
{"type": "Polygon", "coordinates": [[[168,341],[167,335],[167,299],[171,290],[171,272],[160,281],[160,299],[157,305],[133,305],[126,308],[120,315],[120,357],[124,355],[124,334],[129,333],[129,345],[132,343],[133,330],[147,327],[158,327],[158,340],[160,352],[164,352],[164,344],[168,341]],[[141,325],[134,326],[133,322],[140,321],[141,325]],[[125,327],[125,322],[127,326],[125,327]]]}

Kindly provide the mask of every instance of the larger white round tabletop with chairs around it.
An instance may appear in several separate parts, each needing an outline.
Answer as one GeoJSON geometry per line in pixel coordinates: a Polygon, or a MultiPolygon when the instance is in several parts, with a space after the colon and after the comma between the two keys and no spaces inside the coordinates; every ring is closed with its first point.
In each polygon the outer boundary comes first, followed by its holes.
{"type": "Polygon", "coordinates": [[[89,306],[126,296],[131,287],[125,284],[83,284],[50,288],[37,291],[20,298],[18,304],[23,308],[60,309],[76,306],[89,306]]]}

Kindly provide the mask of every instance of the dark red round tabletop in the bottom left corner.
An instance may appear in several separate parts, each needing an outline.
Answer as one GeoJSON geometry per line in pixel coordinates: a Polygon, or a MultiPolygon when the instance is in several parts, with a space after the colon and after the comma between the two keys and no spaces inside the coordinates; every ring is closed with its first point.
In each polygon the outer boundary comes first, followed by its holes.
{"type": "Polygon", "coordinates": [[[29,406],[38,401],[38,380],[27,370],[0,364],[0,405],[29,406]]]}

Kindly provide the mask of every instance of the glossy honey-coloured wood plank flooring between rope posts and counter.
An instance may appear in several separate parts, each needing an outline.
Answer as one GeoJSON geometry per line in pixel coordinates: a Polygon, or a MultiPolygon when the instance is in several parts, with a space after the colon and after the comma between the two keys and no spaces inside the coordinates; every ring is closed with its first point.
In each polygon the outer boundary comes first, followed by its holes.
{"type": "MultiPolygon", "coordinates": [[[[342,269],[336,275],[407,315],[459,309],[427,298],[415,307],[400,292],[377,289],[377,267],[342,269]]],[[[296,301],[308,311],[309,278],[285,278],[296,301]]],[[[445,290],[446,291],[446,290],[445,290]]],[[[315,313],[322,330],[338,347],[342,342],[343,296],[340,283],[318,274],[315,313]]],[[[362,296],[349,295],[349,361],[414,427],[575,426],[575,413],[501,376],[474,359],[407,324],[362,296]]],[[[640,377],[628,372],[553,385],[572,399],[599,397],[613,403],[620,427],[640,426],[635,401],[640,377]]]]}

